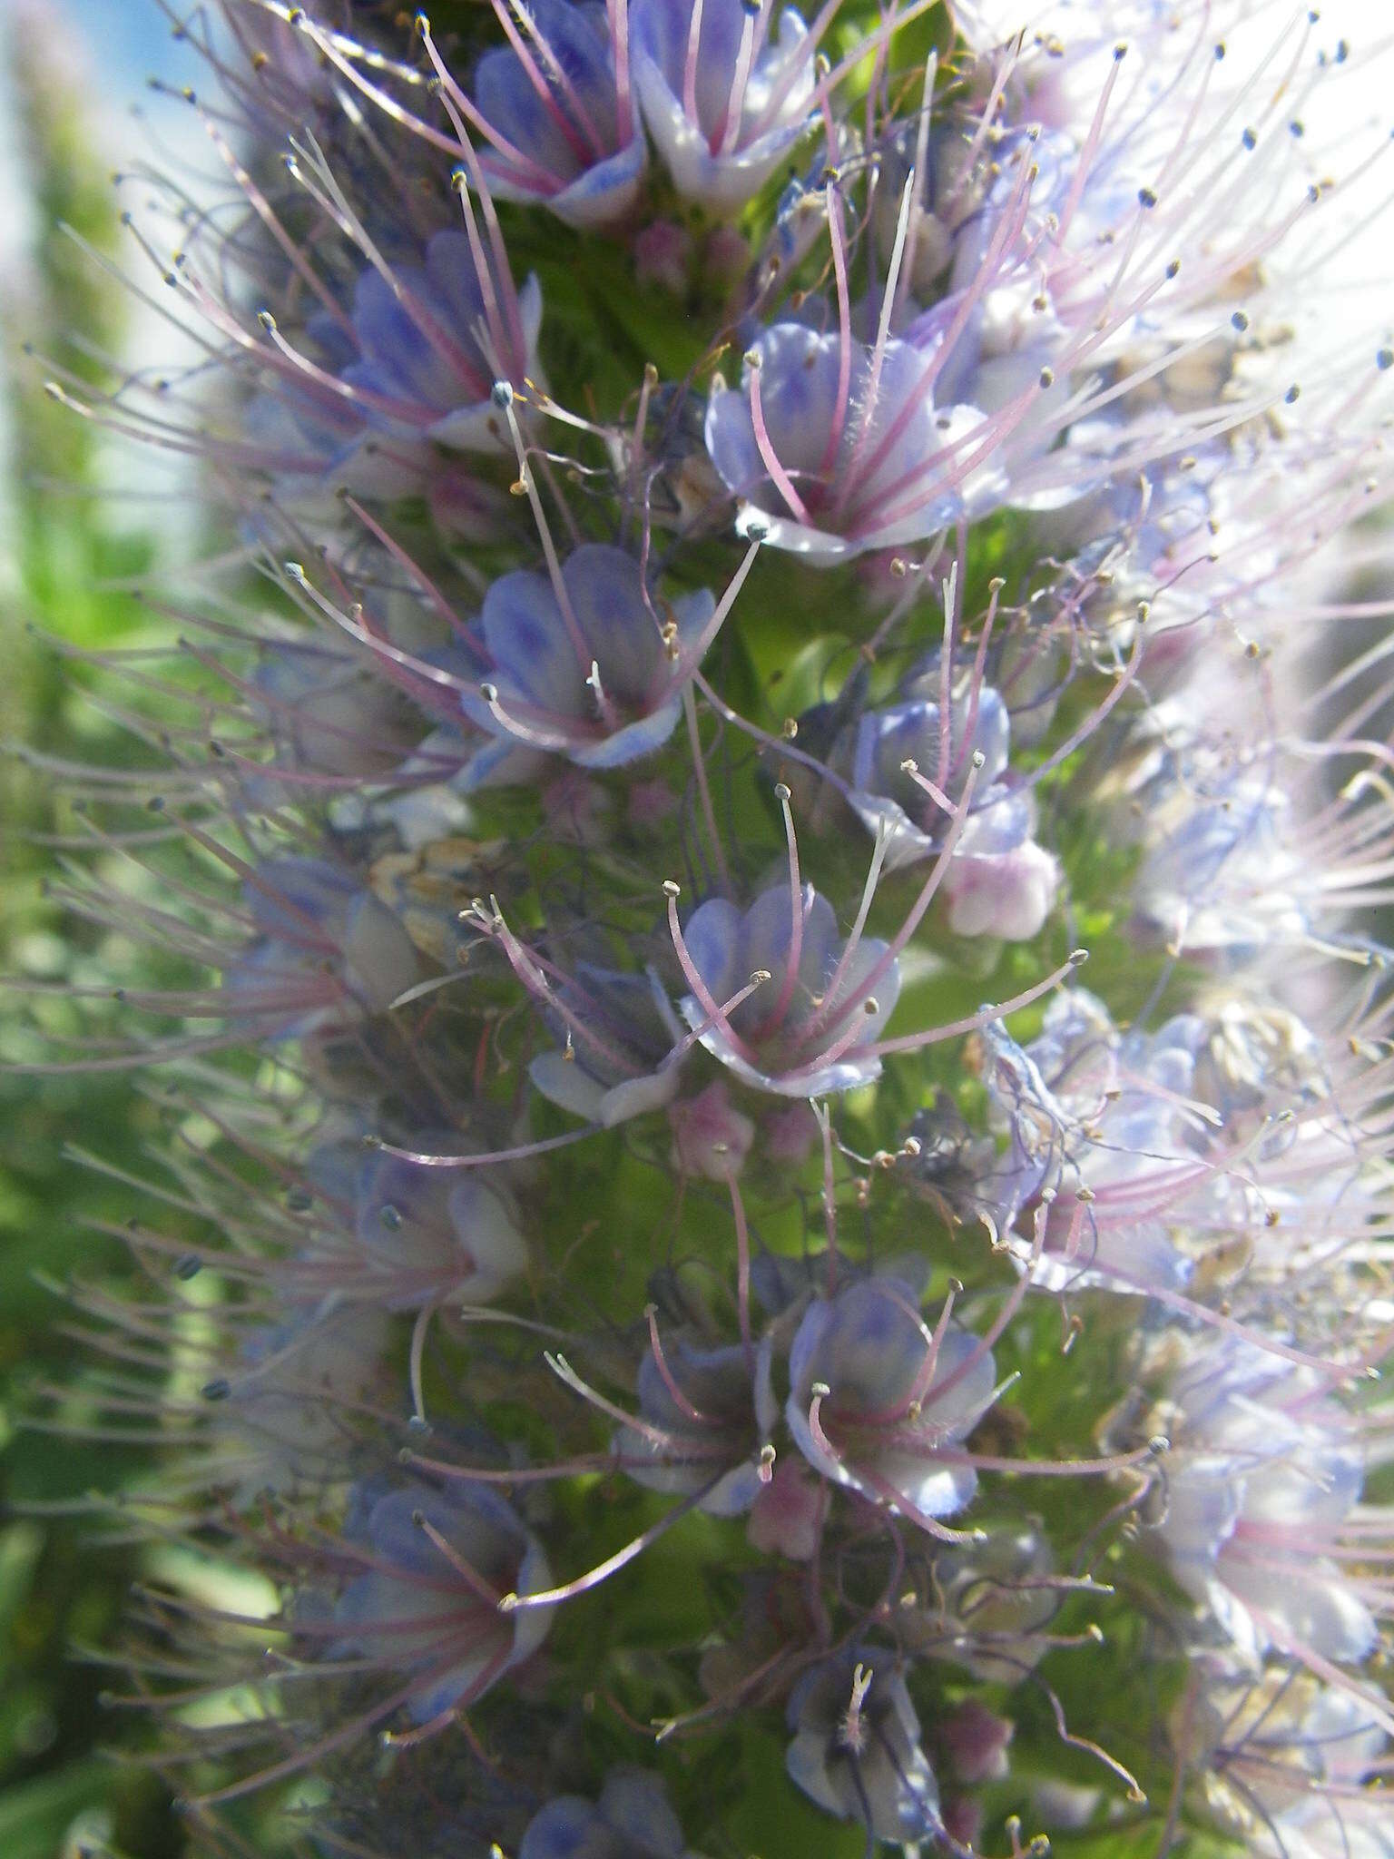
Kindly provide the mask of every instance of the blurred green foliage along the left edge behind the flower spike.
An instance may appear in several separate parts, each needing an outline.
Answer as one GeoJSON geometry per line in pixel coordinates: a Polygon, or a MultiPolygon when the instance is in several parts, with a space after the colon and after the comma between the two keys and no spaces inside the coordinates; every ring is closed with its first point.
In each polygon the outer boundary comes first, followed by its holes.
{"type": "MultiPolygon", "coordinates": [[[[9,481],[0,548],[0,736],[37,757],[113,762],[121,732],[85,699],[84,671],[48,638],[89,651],[132,643],[149,615],[121,582],[151,561],[149,543],[115,524],[99,487],[93,426],[45,394],[59,370],[89,377],[91,357],[117,351],[125,303],[91,257],[117,238],[110,178],[87,145],[82,100],[46,33],[19,17],[4,45],[15,139],[28,164],[33,236],[7,279],[13,309],[0,331],[9,424],[9,481]],[[80,340],[78,340],[80,333],[80,340]],[[30,353],[33,348],[37,353],[30,353]]],[[[41,890],[50,835],[80,822],[37,760],[0,764],[0,972],[39,983],[78,978],[102,931],[59,924],[41,890]]],[[[32,1056],[24,1000],[9,996],[0,1060],[32,1056]]],[[[52,1281],[106,1279],[119,1249],[93,1223],[128,1212],[128,1190],[74,1166],[67,1141],[89,1140],[139,1167],[156,1123],[136,1082],[119,1075],[35,1080],[0,1073],[0,1853],[121,1853],[173,1859],[177,1822],[158,1781],[112,1760],[100,1694],[112,1682],[71,1647],[110,1645],[134,1562],[100,1541],[93,1519],[65,1511],[110,1485],[112,1448],[32,1431],[54,1411],[45,1385],[71,1381],[74,1342],[52,1281]]]]}

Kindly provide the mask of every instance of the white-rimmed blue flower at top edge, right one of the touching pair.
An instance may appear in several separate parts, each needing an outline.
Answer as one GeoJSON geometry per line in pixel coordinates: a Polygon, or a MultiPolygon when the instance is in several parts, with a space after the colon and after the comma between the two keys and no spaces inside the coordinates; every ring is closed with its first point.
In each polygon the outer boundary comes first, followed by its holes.
{"type": "Polygon", "coordinates": [[[632,0],[634,86],[673,186],[708,214],[738,212],[814,121],[814,45],[794,7],[632,0]]]}

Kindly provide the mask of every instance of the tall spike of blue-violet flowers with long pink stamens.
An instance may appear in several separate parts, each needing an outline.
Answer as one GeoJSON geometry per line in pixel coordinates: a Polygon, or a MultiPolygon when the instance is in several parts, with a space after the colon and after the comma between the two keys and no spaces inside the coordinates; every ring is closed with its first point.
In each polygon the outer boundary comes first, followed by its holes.
{"type": "Polygon", "coordinates": [[[225,0],[54,381],[223,524],[67,892],[214,1852],[1394,1853],[1379,145],[1009,11],[225,0]]]}

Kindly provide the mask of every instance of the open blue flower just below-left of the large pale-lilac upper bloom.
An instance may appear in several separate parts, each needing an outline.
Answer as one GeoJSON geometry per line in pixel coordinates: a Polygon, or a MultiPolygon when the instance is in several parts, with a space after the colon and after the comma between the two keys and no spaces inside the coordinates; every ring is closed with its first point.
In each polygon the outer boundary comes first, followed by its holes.
{"type": "Polygon", "coordinates": [[[658,608],[639,563],[606,543],[572,550],[556,582],[504,574],[480,617],[485,682],[461,693],[465,714],[494,738],[465,770],[467,786],[528,779],[535,751],[621,768],[662,747],[714,612],[706,589],[658,608]]]}

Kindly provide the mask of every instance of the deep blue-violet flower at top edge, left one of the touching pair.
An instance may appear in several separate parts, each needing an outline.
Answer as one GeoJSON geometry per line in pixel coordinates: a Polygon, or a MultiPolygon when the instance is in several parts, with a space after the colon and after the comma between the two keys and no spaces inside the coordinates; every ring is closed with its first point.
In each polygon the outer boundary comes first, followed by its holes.
{"type": "Polygon", "coordinates": [[[632,212],[647,158],[617,76],[625,7],[530,0],[519,19],[522,32],[509,30],[513,43],[485,52],[474,76],[485,132],[494,132],[480,158],[489,186],[578,229],[613,225],[632,212]]]}

